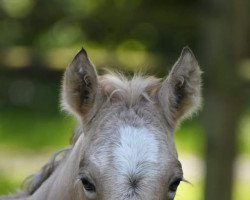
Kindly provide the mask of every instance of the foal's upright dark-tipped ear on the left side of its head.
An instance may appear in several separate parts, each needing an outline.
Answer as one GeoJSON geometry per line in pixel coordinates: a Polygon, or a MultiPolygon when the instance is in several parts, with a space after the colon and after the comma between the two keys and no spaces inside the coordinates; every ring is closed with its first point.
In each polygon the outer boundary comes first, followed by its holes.
{"type": "Polygon", "coordinates": [[[62,108],[82,117],[93,106],[97,87],[95,67],[82,48],[65,71],[62,108]]]}

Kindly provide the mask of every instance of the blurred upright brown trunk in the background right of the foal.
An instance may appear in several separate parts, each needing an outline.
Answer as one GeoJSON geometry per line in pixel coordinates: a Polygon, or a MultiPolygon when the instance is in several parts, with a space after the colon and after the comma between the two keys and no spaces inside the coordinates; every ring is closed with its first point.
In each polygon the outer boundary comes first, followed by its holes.
{"type": "Polygon", "coordinates": [[[205,200],[232,199],[238,125],[246,95],[238,72],[247,50],[248,3],[247,0],[204,1],[201,45],[207,85],[205,200]]]}

